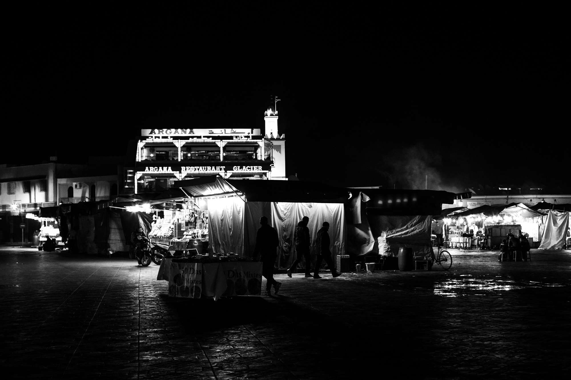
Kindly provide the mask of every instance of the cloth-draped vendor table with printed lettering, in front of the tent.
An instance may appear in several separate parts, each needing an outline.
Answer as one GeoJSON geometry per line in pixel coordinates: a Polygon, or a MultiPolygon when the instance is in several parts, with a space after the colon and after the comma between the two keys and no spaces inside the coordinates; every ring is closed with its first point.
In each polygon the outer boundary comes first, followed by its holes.
{"type": "Polygon", "coordinates": [[[262,293],[262,262],[179,262],[165,258],[156,279],[168,281],[171,297],[214,297],[218,300],[222,296],[259,296],[262,293]]]}

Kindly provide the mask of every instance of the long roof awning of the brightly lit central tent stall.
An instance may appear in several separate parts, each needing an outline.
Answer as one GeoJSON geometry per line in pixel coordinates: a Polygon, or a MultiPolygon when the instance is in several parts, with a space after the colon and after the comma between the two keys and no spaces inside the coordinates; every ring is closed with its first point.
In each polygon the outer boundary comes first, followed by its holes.
{"type": "Polygon", "coordinates": [[[347,189],[312,181],[238,180],[204,176],[175,181],[175,187],[192,197],[245,195],[247,201],[344,203],[347,189]]]}

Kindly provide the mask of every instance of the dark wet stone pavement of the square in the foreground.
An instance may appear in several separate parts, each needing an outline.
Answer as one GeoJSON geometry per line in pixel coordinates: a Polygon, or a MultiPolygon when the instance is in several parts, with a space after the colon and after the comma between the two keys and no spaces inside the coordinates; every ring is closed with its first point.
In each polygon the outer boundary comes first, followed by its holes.
{"type": "Polygon", "coordinates": [[[214,301],[168,297],[155,264],[1,247],[3,373],[569,378],[571,250],[532,249],[528,262],[450,251],[449,271],[277,274],[276,296],[214,301]]]}

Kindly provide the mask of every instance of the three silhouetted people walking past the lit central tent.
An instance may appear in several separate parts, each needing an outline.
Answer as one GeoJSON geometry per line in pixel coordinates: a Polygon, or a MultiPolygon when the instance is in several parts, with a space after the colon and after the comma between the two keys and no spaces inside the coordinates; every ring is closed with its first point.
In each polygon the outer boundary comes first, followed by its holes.
{"type": "MultiPolygon", "coordinates": [[[[329,238],[329,223],[323,222],[322,227],[317,231],[316,247],[317,257],[315,260],[315,268],[311,274],[311,238],[309,237],[309,217],[304,216],[295,228],[293,233],[293,244],[295,246],[296,258],[287,269],[288,277],[292,277],[292,273],[296,270],[297,265],[305,260],[305,277],[321,278],[319,270],[321,263],[325,261],[333,277],[339,276],[341,273],[336,271],[335,264],[331,258],[331,239],[329,238]]],[[[262,261],[262,276],[266,278],[266,296],[271,296],[271,288],[274,286],[274,293],[278,294],[282,282],[274,279],[274,265],[278,257],[277,249],[279,246],[278,232],[274,227],[268,225],[266,216],[260,217],[260,227],[256,235],[256,246],[254,248],[254,257],[262,261]]]]}

